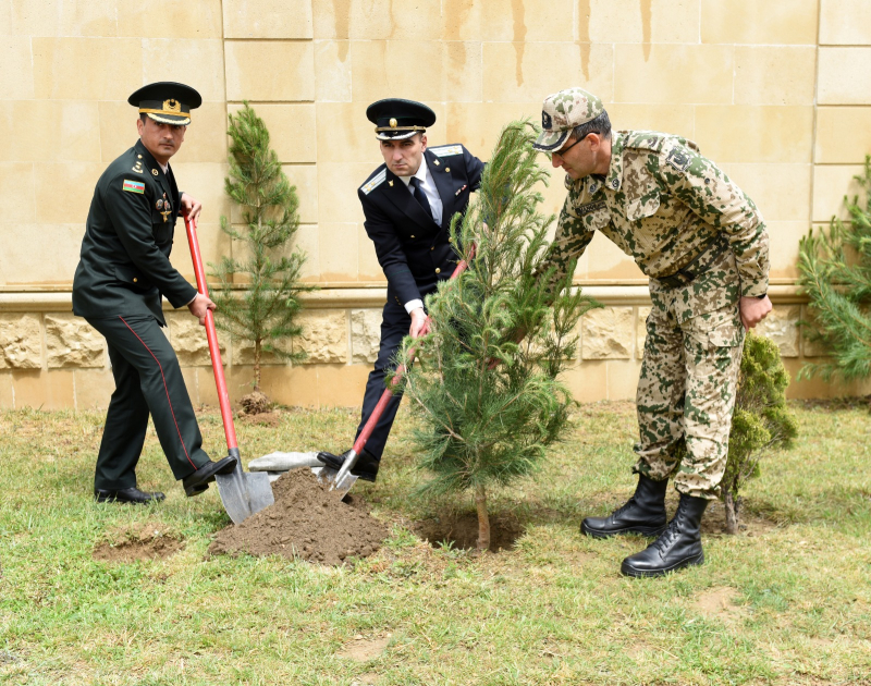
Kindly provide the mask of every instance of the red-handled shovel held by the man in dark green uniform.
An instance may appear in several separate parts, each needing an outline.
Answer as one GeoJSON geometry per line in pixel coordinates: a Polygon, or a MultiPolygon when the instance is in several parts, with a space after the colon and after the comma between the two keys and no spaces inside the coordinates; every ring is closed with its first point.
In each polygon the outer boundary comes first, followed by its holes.
{"type": "MultiPolygon", "coordinates": [[[[184,225],[187,230],[187,243],[191,245],[191,257],[194,260],[194,273],[197,277],[197,290],[209,296],[209,287],[206,284],[206,272],[203,270],[203,256],[199,253],[199,241],[197,241],[196,222],[184,218],[184,225]]],[[[226,452],[231,457],[236,458],[236,468],[230,474],[218,474],[214,480],[218,482],[218,492],[221,494],[221,502],[233,524],[240,524],[275,502],[272,495],[272,486],[269,482],[269,475],[266,473],[252,474],[242,470],[242,457],[238,454],[238,442],[236,441],[236,428],[233,425],[233,413],[230,409],[230,395],[226,392],[226,380],[224,379],[224,367],[221,363],[221,348],[218,346],[218,332],[214,330],[214,315],[209,309],[206,311],[206,336],[209,340],[209,354],[211,355],[211,367],[214,370],[214,384],[218,387],[218,402],[221,405],[221,420],[224,425],[226,436],[226,452]]]]}

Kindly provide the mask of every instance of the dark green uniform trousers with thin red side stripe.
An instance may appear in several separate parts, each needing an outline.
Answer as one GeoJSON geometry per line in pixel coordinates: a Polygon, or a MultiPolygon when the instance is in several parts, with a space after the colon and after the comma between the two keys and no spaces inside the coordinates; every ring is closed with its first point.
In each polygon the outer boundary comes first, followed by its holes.
{"type": "Polygon", "coordinates": [[[87,319],[109,346],[115,391],[106,414],[94,488],[136,486],[148,416],[176,479],[209,462],[179,358],[155,317],[87,319]]]}

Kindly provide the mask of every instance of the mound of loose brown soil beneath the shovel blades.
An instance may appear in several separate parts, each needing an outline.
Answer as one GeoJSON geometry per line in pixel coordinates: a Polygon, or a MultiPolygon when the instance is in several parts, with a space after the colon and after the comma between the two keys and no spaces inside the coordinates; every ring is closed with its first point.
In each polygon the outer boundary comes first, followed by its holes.
{"type": "Polygon", "coordinates": [[[330,492],[307,468],[292,469],[272,483],[275,504],[218,532],[209,553],[283,555],[338,565],[366,558],[388,536],[361,499],[330,492]]]}

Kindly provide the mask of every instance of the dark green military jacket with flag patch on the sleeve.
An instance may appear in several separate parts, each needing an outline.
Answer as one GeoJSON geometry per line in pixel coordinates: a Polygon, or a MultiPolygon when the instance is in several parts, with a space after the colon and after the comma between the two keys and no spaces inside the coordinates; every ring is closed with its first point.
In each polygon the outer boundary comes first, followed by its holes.
{"type": "Polygon", "coordinates": [[[165,324],[160,296],[173,307],[196,289],[170,264],[181,193],[151,154],[136,145],[102,173],[90,201],[73,280],[73,311],[106,318],[154,315],[165,324]]]}

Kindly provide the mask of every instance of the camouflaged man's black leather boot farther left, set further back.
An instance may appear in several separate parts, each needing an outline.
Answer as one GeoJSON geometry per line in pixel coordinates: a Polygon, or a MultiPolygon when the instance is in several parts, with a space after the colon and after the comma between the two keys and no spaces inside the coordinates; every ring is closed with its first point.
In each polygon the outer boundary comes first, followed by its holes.
{"type": "Polygon", "coordinates": [[[654,481],[639,474],[635,495],[625,505],[606,517],[587,517],[580,523],[580,530],[593,538],[608,538],[617,534],[659,536],[667,523],[665,516],[667,488],[668,479],[654,481]]]}

